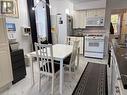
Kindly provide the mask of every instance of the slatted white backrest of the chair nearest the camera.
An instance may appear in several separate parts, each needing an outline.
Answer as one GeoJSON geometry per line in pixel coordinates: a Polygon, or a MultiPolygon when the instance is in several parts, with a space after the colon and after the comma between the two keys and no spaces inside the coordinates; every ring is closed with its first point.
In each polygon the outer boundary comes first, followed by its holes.
{"type": "Polygon", "coordinates": [[[35,50],[41,72],[43,72],[43,74],[54,74],[52,45],[35,43],[35,50]]]}

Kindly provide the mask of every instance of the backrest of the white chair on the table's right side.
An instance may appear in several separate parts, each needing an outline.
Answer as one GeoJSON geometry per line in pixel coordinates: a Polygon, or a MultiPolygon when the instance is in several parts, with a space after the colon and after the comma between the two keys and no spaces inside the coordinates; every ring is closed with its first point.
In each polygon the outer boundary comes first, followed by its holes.
{"type": "Polygon", "coordinates": [[[74,41],[73,50],[71,54],[70,64],[75,64],[76,56],[78,53],[79,41],[74,41]]]}

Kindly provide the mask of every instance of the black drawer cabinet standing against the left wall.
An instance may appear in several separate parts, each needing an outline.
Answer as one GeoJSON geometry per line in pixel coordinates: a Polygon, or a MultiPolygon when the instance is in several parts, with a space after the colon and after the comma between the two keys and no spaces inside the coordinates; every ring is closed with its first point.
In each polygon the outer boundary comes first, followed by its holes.
{"type": "Polygon", "coordinates": [[[26,67],[25,67],[23,50],[20,49],[20,50],[12,51],[11,61],[12,61],[12,71],[13,71],[12,83],[15,84],[16,82],[20,81],[26,76],[26,67]]]}

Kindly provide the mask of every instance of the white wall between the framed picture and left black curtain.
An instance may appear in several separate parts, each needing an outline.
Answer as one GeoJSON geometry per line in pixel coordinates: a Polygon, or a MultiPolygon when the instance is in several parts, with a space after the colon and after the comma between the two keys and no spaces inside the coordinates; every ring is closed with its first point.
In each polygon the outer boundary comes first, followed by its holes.
{"type": "Polygon", "coordinates": [[[12,22],[16,24],[16,38],[20,43],[20,48],[24,49],[25,54],[31,50],[31,37],[23,37],[21,27],[29,26],[29,17],[27,11],[27,0],[17,0],[19,9],[19,18],[7,17],[7,22],[12,22]]]}

